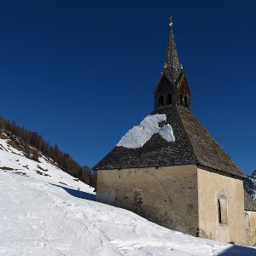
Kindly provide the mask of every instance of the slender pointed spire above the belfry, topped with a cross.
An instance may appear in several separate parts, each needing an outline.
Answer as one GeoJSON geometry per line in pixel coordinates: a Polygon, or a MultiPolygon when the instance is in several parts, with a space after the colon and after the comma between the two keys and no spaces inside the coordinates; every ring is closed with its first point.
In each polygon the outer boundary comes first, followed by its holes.
{"type": "Polygon", "coordinates": [[[164,66],[164,73],[166,73],[171,79],[172,83],[175,83],[178,75],[182,72],[181,66],[178,61],[177,57],[177,49],[176,49],[176,44],[174,40],[174,35],[172,31],[172,16],[170,17],[170,33],[169,33],[169,40],[167,44],[167,49],[166,49],[166,61],[165,61],[165,66],[164,66]]]}

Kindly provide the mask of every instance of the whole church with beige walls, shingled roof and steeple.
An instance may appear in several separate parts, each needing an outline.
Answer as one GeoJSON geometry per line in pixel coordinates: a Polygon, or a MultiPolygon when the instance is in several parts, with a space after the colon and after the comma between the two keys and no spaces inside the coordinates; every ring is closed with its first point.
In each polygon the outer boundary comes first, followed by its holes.
{"type": "Polygon", "coordinates": [[[191,113],[172,20],[169,26],[154,111],[94,166],[96,200],[192,236],[255,246],[256,205],[243,188],[246,175],[191,113]]]}

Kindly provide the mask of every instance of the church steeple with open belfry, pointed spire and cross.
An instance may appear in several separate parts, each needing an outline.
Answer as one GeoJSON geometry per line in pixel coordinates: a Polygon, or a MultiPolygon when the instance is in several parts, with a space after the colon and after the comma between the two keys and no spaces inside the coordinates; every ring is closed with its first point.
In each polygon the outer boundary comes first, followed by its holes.
{"type": "Polygon", "coordinates": [[[154,109],[180,106],[190,110],[191,92],[183,68],[179,64],[172,31],[172,16],[166,49],[166,61],[160,81],[154,90],[154,109]]]}

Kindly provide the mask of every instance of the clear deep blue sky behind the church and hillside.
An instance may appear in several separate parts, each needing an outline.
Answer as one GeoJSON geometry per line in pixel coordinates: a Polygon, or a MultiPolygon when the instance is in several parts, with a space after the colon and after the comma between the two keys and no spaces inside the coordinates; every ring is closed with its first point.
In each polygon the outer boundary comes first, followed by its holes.
{"type": "Polygon", "coordinates": [[[94,166],[153,110],[169,15],[192,113],[253,172],[253,0],[1,1],[0,114],[94,166]]]}

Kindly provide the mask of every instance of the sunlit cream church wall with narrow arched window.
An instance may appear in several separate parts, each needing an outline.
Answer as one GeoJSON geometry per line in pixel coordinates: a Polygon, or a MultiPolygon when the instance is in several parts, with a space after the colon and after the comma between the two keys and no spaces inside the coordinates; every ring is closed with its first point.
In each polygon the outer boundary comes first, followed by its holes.
{"type": "Polygon", "coordinates": [[[242,180],[200,167],[198,177],[198,214],[200,236],[222,242],[246,245],[244,190],[242,180]],[[219,223],[218,198],[226,199],[227,221],[219,223]]]}

